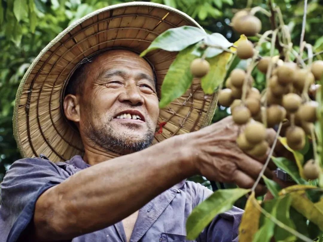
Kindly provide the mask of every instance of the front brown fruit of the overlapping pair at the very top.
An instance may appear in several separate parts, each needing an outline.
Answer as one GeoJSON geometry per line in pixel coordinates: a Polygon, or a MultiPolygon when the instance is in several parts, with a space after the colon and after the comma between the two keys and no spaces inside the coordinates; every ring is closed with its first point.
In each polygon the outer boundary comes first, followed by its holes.
{"type": "Polygon", "coordinates": [[[261,30],[261,21],[253,15],[245,15],[238,20],[238,23],[233,25],[233,28],[240,34],[255,36],[261,30]]]}

